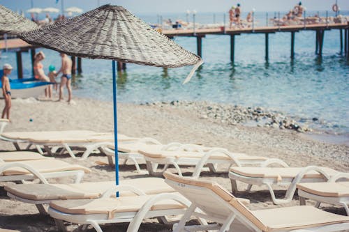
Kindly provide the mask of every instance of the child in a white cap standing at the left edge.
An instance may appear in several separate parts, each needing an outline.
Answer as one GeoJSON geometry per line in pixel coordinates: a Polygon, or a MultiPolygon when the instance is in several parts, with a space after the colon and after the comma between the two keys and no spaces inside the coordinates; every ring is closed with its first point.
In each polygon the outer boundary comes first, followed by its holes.
{"type": "Polygon", "coordinates": [[[2,84],[2,94],[3,99],[5,100],[5,107],[3,107],[1,118],[6,118],[10,120],[10,109],[11,109],[11,87],[10,80],[8,79],[8,75],[10,75],[12,71],[12,66],[8,63],[3,65],[3,76],[1,77],[2,84]]]}

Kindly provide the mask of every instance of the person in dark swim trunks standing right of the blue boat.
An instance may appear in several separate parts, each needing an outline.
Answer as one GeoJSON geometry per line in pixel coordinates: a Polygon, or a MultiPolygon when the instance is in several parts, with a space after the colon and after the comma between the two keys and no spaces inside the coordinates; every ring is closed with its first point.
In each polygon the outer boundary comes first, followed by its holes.
{"type": "Polygon", "coordinates": [[[61,69],[57,72],[57,75],[59,75],[60,72],[63,73],[61,76],[61,85],[59,86],[59,101],[63,100],[63,88],[66,86],[68,90],[68,103],[70,103],[71,100],[71,67],[73,62],[69,57],[64,54],[60,53],[59,54],[62,59],[62,64],[61,64],[61,69]]]}

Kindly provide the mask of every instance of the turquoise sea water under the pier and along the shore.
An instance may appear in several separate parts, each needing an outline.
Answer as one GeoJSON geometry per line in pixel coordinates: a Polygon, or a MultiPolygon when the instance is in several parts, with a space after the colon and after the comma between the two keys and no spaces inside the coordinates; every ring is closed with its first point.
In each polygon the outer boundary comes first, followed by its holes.
{"type": "MultiPolygon", "coordinates": [[[[156,17],[152,19],[156,21],[156,17]]],[[[290,33],[269,35],[268,63],[264,59],[263,34],[235,38],[235,65],[230,63],[229,36],[204,38],[202,56],[205,63],[186,85],[181,82],[191,67],[164,70],[128,64],[126,72],[118,76],[118,101],[207,100],[246,107],[261,106],[297,116],[303,121],[319,118],[313,127],[349,133],[349,65],[339,54],[338,30],[325,32],[322,59],[314,54],[314,31],[296,33],[294,61],[290,60],[290,33]]],[[[196,52],[195,38],[174,40],[196,52]]],[[[43,52],[47,56],[44,67],[48,69],[54,64],[59,68],[58,53],[47,49],[43,52]]],[[[14,53],[3,56],[1,65],[5,62],[15,65],[14,53]]],[[[22,58],[27,77],[31,72],[29,56],[24,53],[22,58]]],[[[82,70],[82,76],[75,77],[73,94],[112,101],[112,62],[83,59],[82,70]]],[[[16,70],[13,72],[15,77],[16,70]]]]}

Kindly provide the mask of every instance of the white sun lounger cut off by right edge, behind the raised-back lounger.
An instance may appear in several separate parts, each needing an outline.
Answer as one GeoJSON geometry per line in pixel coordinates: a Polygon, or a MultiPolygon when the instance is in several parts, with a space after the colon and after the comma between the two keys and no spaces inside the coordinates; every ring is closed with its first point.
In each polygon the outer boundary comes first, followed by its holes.
{"type": "Polygon", "coordinates": [[[311,199],[317,201],[315,205],[317,208],[322,202],[343,206],[349,216],[349,182],[336,182],[342,178],[349,179],[349,173],[339,173],[323,183],[297,184],[299,203],[305,206],[305,199],[311,199]]]}

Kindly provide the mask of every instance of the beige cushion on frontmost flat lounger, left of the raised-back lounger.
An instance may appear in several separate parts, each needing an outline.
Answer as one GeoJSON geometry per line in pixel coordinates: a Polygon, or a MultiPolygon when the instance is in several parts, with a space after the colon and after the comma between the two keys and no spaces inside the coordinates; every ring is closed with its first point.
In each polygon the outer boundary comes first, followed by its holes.
{"type": "MultiPolygon", "coordinates": [[[[142,208],[144,203],[146,203],[152,196],[155,195],[52,201],[50,203],[50,207],[54,210],[59,210],[61,212],[69,214],[105,214],[108,215],[108,219],[111,219],[114,213],[117,212],[138,212],[138,210],[142,208]]],[[[151,210],[172,210],[180,208],[185,208],[185,206],[181,205],[177,201],[164,200],[159,201],[154,206],[152,206],[151,210]]]]}

